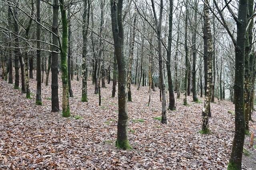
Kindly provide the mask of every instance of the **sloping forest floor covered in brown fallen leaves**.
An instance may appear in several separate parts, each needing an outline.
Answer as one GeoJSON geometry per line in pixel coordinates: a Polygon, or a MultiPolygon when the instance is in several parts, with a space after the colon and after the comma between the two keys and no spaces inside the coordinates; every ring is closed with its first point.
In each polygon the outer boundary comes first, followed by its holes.
{"type": "MultiPolygon", "coordinates": [[[[51,84],[51,82],[49,82],[51,84]]],[[[222,170],[226,169],[234,136],[234,104],[220,101],[211,104],[209,120],[212,134],[201,135],[202,103],[183,106],[176,99],[176,110],[168,110],[168,124],[163,125],[159,90],[151,94],[148,87],[132,85],[132,102],[128,102],[129,141],[132,150],[115,147],[118,99],[111,98],[112,82],[101,88],[101,106],[88,82],[88,102],[80,102],[82,82],[72,81],[74,98],[70,98],[72,117],[51,113],[51,86],[42,84],[43,106],[36,106],[36,80],[30,79],[33,99],[14,90],[13,84],[0,80],[0,169],[67,170],[222,170]],[[144,120],[144,122],[142,122],[144,120]]],[[[62,84],[59,82],[60,108],[62,84]]],[[[256,114],[253,113],[256,120],[256,114]]],[[[256,123],[250,122],[250,132],[256,123]]],[[[244,143],[243,169],[256,170],[256,145],[244,143]]],[[[255,142],[254,142],[255,143],[255,142]]],[[[255,143],[256,144],[256,143],[255,143]]]]}

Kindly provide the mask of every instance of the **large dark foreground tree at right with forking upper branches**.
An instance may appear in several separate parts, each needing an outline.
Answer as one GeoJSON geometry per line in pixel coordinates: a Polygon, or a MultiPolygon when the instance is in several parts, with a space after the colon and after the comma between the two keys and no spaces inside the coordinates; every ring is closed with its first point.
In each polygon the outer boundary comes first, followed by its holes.
{"type": "MultiPolygon", "coordinates": [[[[226,1],[225,1],[226,2],[226,1]]],[[[228,170],[242,170],[242,156],[244,148],[244,135],[245,135],[245,118],[244,118],[244,55],[246,43],[246,24],[247,24],[247,10],[248,0],[239,0],[238,16],[236,17],[233,11],[228,10],[234,20],[236,21],[237,33],[236,39],[232,31],[228,28],[222,10],[218,7],[216,0],[214,0],[218,16],[216,18],[224,26],[228,35],[232,39],[235,48],[235,77],[234,77],[234,100],[235,100],[235,134],[233,140],[233,147],[228,162],[228,170]]]]}

